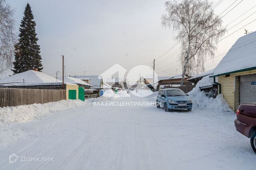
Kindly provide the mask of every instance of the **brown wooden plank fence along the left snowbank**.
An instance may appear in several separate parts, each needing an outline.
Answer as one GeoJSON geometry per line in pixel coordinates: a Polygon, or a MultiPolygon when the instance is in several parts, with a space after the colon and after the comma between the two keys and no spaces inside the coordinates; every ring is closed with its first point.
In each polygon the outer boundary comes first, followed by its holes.
{"type": "Polygon", "coordinates": [[[66,90],[0,88],[0,107],[42,104],[66,99],[66,90]]]}

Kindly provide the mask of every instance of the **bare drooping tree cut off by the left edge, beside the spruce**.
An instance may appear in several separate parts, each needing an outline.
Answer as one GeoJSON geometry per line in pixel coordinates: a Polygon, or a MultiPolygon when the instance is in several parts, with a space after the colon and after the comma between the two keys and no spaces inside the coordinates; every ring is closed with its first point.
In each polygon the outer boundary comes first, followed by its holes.
{"type": "Polygon", "coordinates": [[[16,41],[14,10],[0,0],[0,73],[11,68],[16,41]]]}

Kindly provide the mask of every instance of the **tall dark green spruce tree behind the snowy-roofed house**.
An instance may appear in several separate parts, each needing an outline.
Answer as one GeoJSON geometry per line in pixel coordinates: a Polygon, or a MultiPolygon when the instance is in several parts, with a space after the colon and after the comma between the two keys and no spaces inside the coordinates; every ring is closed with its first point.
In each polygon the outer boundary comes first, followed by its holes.
{"type": "Polygon", "coordinates": [[[37,44],[36,22],[29,4],[26,5],[24,17],[20,24],[19,41],[14,46],[14,74],[38,68],[43,69],[40,45],[37,44]]]}

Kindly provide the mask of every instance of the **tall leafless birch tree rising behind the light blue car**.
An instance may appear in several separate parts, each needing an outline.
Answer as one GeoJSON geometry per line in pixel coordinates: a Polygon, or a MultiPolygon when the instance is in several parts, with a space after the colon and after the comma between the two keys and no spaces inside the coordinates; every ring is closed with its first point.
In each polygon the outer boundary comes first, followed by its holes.
{"type": "Polygon", "coordinates": [[[176,40],[181,43],[182,80],[191,70],[204,71],[204,61],[214,57],[217,43],[226,32],[222,20],[214,14],[208,0],[183,0],[166,2],[166,13],[162,25],[177,32],[176,40]]]}

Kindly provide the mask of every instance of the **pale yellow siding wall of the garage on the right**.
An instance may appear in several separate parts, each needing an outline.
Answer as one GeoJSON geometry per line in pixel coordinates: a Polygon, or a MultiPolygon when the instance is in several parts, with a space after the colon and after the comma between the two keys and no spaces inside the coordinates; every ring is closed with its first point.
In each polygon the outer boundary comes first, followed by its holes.
{"type": "MultiPolygon", "coordinates": [[[[247,75],[247,74],[256,74],[256,70],[249,70],[249,71],[243,71],[243,72],[237,72],[230,74],[230,76],[226,77],[225,75],[223,76],[218,76],[218,83],[221,84],[221,92],[223,94],[223,97],[227,101],[229,107],[236,111],[236,108],[238,107],[237,105],[239,102],[239,76],[242,75],[247,75]],[[235,76],[236,76],[236,92],[235,92],[235,76]],[[235,98],[235,93],[236,93],[236,98],[235,98]],[[237,98],[238,96],[238,98],[237,98]],[[235,104],[236,101],[236,104],[235,104]]],[[[219,92],[218,92],[219,94],[219,92]]]]}

